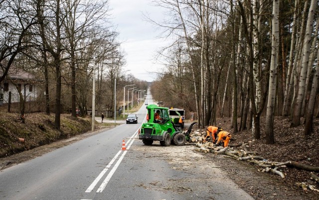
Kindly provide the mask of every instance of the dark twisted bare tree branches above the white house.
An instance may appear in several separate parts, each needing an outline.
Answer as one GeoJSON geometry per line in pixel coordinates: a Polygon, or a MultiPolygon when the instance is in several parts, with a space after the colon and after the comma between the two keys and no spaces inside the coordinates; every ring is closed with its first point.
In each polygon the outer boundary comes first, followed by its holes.
{"type": "Polygon", "coordinates": [[[33,0],[0,1],[0,82],[14,62],[15,57],[28,45],[24,37],[37,23],[33,0]]]}

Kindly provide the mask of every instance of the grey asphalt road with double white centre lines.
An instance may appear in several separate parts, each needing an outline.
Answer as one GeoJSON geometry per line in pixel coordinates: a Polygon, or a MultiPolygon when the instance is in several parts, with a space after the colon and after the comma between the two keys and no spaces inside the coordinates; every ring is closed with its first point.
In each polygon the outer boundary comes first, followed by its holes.
{"type": "MultiPolygon", "coordinates": [[[[151,95],[146,102],[152,103],[151,95]]],[[[0,200],[253,199],[225,177],[208,180],[207,184],[214,187],[215,193],[212,194],[209,187],[198,185],[197,180],[203,180],[202,174],[172,168],[165,159],[161,159],[165,157],[161,149],[175,151],[176,146],[155,144],[151,147],[152,151],[145,151],[147,148],[137,137],[146,117],[145,106],[136,113],[138,124],[121,124],[2,170],[0,200]],[[125,151],[122,150],[123,140],[125,151]],[[183,187],[179,188],[186,189],[184,192],[168,187],[180,182],[183,182],[183,187]],[[150,183],[157,189],[152,189],[150,183]],[[158,183],[163,186],[159,187],[158,183]]],[[[215,174],[222,173],[218,167],[211,170],[215,174]]]]}

